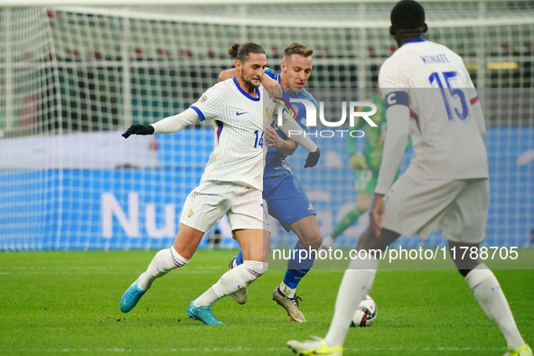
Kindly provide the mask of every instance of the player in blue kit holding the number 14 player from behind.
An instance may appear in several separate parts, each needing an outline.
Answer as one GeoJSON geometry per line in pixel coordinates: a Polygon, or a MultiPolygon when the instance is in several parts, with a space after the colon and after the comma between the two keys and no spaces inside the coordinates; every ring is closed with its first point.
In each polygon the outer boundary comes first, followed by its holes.
{"type": "MultiPolygon", "coordinates": [[[[290,44],[284,51],[284,58],[280,63],[281,72],[276,73],[274,70],[266,68],[266,75],[262,79],[262,84],[267,88],[281,86],[284,91],[284,100],[306,99],[311,101],[316,108],[317,103],[314,97],[304,89],[312,71],[313,54],[314,50],[311,47],[300,43],[290,44]],[[269,80],[267,76],[270,77],[270,83],[265,82],[265,80],[269,80]]],[[[223,70],[219,78],[226,80],[233,75],[233,70],[223,70]]],[[[288,108],[289,110],[295,110],[295,120],[304,130],[307,130],[304,124],[306,117],[304,104],[298,102],[288,104],[293,107],[288,108]]],[[[298,237],[291,253],[291,256],[296,258],[287,261],[286,273],[280,285],[276,286],[273,292],[273,300],[286,309],[291,320],[305,323],[306,319],[299,307],[300,297],[295,294],[295,291],[300,280],[314,265],[314,254],[306,254],[312,256],[302,260],[297,259],[301,256],[299,254],[301,249],[309,251],[310,248],[312,250],[319,248],[323,236],[319,230],[319,223],[315,217],[316,213],[312,202],[286,163],[286,156],[295,152],[297,147],[295,141],[277,130],[276,122],[267,127],[266,138],[268,151],[263,177],[263,198],[267,201],[269,214],[276,218],[286,231],[292,230],[298,237]]],[[[317,155],[319,155],[318,150],[317,155]]],[[[239,266],[242,261],[241,251],[239,251],[238,256],[230,261],[230,268],[239,266]]],[[[239,304],[245,304],[248,291],[243,289],[232,296],[239,304]]]]}

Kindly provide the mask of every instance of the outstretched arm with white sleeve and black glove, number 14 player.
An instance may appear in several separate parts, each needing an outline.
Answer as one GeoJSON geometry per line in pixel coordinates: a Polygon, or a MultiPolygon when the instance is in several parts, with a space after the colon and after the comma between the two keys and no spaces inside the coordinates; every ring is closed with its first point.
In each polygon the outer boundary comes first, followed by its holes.
{"type": "Polygon", "coordinates": [[[128,138],[131,135],[170,134],[183,129],[185,126],[190,126],[199,119],[199,114],[192,108],[188,108],[178,115],[165,117],[152,125],[132,125],[122,136],[128,138]]]}

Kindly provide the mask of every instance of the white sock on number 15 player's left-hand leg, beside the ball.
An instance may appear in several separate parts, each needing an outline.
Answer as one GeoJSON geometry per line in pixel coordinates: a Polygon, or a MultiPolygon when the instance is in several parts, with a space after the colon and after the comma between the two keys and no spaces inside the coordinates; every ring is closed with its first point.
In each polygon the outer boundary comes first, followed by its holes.
{"type": "Polygon", "coordinates": [[[345,271],[342,284],[335,300],[332,323],[324,342],[328,346],[342,345],[351,327],[352,315],[370,287],[377,273],[379,260],[376,258],[354,259],[345,271]]]}

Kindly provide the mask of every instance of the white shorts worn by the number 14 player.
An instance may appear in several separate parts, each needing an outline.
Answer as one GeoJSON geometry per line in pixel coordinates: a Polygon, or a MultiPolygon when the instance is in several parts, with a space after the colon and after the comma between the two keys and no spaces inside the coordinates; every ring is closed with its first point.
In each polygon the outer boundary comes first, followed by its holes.
{"type": "Polygon", "coordinates": [[[180,222],[206,232],[226,214],[230,229],[267,230],[261,191],[231,182],[201,182],[183,203],[180,222]]]}

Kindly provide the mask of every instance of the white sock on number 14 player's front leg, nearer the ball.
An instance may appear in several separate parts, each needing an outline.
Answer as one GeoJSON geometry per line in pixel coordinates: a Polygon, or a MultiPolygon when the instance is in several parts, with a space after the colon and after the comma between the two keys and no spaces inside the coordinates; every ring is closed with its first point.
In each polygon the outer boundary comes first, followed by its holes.
{"type": "Polygon", "coordinates": [[[204,294],[196,298],[194,306],[211,305],[226,295],[233,295],[240,289],[246,288],[249,284],[258,279],[267,271],[267,263],[258,261],[243,261],[242,265],[233,267],[220,277],[204,294]]]}

